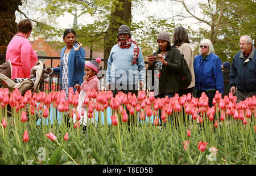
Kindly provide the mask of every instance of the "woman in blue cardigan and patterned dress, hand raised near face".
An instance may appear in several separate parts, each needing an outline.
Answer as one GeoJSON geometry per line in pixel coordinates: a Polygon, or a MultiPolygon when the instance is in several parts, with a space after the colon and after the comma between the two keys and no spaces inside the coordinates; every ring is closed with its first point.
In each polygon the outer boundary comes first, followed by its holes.
{"type": "Polygon", "coordinates": [[[63,40],[66,46],[61,49],[60,67],[53,68],[53,71],[59,72],[60,89],[65,91],[67,99],[69,87],[73,87],[75,92],[75,85],[81,85],[84,81],[85,50],[76,41],[76,32],[73,29],[64,31],[63,40]]]}

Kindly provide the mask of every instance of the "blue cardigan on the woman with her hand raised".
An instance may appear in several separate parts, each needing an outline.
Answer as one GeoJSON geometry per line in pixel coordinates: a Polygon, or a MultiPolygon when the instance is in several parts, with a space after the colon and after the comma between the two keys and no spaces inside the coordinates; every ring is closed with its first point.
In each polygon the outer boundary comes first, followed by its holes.
{"type": "MultiPolygon", "coordinates": [[[[75,47],[78,45],[75,44],[75,47]]],[[[65,46],[61,49],[60,52],[60,67],[53,68],[54,72],[60,73],[60,87],[61,86],[61,80],[62,80],[62,59],[64,55],[64,51],[67,48],[65,46]]],[[[74,48],[71,49],[69,56],[68,56],[68,85],[69,87],[74,87],[76,84],[81,85],[84,81],[84,65],[85,65],[85,50],[83,48],[80,48],[79,50],[74,50],[74,48]]],[[[75,88],[74,92],[75,92],[75,88]]]]}

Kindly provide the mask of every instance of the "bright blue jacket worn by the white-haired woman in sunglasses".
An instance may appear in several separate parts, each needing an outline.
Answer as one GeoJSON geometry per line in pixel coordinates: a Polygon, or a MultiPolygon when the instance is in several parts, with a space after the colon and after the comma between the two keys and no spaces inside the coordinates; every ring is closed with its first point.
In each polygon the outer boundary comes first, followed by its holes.
{"type": "Polygon", "coordinates": [[[207,91],[216,89],[223,93],[224,81],[221,71],[221,59],[213,53],[207,58],[202,55],[196,55],[194,61],[194,71],[196,78],[195,89],[207,91]]]}

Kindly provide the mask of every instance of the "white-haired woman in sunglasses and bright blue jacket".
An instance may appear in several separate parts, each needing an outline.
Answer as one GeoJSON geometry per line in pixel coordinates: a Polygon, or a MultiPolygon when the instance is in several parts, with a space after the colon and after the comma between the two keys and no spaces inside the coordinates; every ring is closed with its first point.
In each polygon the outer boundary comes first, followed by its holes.
{"type": "Polygon", "coordinates": [[[194,60],[196,97],[200,97],[201,93],[205,92],[211,107],[216,91],[223,93],[222,63],[221,59],[214,54],[214,48],[209,39],[200,41],[199,53],[200,55],[196,55],[194,60]]]}

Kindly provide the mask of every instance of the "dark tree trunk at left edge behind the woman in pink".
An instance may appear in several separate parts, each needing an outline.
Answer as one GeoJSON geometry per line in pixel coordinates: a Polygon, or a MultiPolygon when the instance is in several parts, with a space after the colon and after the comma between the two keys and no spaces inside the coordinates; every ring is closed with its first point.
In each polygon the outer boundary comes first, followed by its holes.
{"type": "Polygon", "coordinates": [[[15,11],[19,5],[22,5],[21,0],[0,1],[0,54],[6,54],[6,48],[17,32],[15,11]]]}

